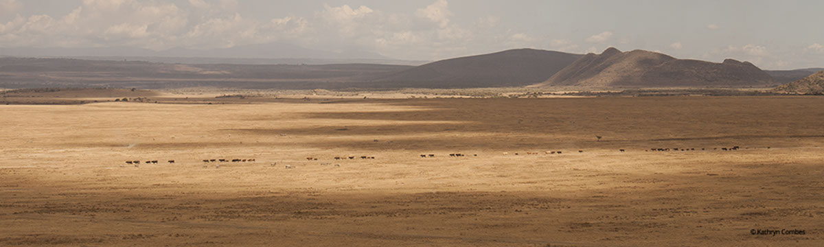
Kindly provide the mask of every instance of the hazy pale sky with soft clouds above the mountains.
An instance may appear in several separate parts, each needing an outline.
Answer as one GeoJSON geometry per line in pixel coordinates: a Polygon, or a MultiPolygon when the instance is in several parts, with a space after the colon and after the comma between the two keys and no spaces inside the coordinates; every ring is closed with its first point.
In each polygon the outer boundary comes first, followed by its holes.
{"type": "Polygon", "coordinates": [[[824,1],[0,0],[0,47],[284,42],[438,60],[613,46],[765,69],[824,67],[824,1]]]}

